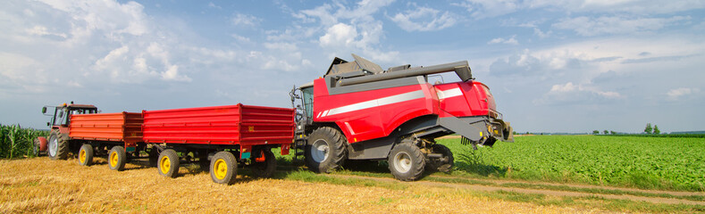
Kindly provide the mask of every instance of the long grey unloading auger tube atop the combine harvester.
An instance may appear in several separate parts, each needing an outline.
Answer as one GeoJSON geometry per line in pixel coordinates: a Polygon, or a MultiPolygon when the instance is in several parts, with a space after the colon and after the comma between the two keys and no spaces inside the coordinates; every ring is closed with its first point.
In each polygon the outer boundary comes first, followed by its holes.
{"type": "Polygon", "coordinates": [[[368,82],[382,81],[382,80],[387,80],[387,79],[392,79],[392,78],[407,78],[407,77],[414,77],[414,76],[420,76],[420,75],[430,75],[430,74],[437,74],[437,73],[443,73],[443,72],[449,72],[449,71],[456,71],[457,77],[459,77],[461,80],[463,80],[463,82],[467,81],[468,79],[473,78],[473,74],[470,72],[470,66],[467,65],[467,61],[459,61],[459,62],[450,62],[450,63],[432,65],[432,66],[421,67],[421,68],[397,70],[397,71],[369,75],[369,76],[364,76],[364,77],[342,78],[342,79],[338,80],[336,85],[350,86],[350,85],[356,85],[356,84],[362,84],[362,83],[368,83],[368,82]]]}

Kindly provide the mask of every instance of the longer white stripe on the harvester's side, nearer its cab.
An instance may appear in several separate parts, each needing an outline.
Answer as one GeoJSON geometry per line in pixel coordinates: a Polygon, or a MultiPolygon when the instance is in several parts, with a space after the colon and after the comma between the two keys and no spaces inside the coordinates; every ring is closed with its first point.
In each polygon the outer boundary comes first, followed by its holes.
{"type": "Polygon", "coordinates": [[[424,98],[424,97],[425,97],[424,92],[421,90],[408,92],[408,93],[404,93],[401,95],[391,95],[391,96],[382,97],[379,99],[374,99],[371,101],[365,101],[365,102],[361,102],[361,103],[340,106],[338,108],[331,109],[330,111],[323,111],[322,117],[336,115],[336,114],[340,114],[340,113],[346,113],[346,112],[350,112],[350,111],[364,110],[364,109],[369,109],[369,108],[382,106],[382,105],[388,105],[388,104],[392,104],[392,103],[401,103],[401,102],[410,101],[410,100],[414,100],[414,99],[418,99],[418,98],[424,98]]]}

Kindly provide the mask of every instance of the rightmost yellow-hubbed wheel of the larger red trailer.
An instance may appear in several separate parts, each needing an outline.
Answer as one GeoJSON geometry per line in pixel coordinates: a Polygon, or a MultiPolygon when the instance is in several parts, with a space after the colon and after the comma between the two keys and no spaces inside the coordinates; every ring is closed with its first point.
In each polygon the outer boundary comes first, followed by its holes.
{"type": "Polygon", "coordinates": [[[232,185],[238,176],[238,161],[231,152],[217,152],[211,159],[211,179],[217,184],[232,185]]]}

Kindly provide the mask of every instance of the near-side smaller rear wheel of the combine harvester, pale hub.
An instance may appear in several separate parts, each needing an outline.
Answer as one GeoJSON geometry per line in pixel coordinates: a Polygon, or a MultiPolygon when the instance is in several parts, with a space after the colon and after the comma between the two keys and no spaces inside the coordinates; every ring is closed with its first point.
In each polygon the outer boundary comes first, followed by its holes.
{"type": "Polygon", "coordinates": [[[414,144],[396,144],[389,156],[391,175],[402,181],[413,181],[424,174],[426,160],[414,144]]]}

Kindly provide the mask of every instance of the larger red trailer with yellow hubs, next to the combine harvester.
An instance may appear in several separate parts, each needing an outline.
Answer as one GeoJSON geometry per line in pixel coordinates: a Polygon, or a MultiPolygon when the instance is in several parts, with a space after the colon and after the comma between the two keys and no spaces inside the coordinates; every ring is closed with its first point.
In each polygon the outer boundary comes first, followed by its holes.
{"type": "Polygon", "coordinates": [[[252,105],[142,111],[142,134],[152,145],[159,173],[175,177],[181,153],[196,152],[214,182],[231,184],[238,164],[260,177],[272,176],[276,158],[272,148],[289,153],[294,139],[294,109],[252,105]]]}

